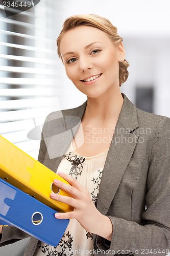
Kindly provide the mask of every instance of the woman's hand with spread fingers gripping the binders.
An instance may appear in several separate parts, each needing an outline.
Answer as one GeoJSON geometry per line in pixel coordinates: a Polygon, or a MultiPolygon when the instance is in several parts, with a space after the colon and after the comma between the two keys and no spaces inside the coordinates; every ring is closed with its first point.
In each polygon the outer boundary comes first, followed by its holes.
{"type": "Polygon", "coordinates": [[[52,193],[51,198],[71,205],[74,210],[56,213],[55,217],[57,219],[76,219],[86,231],[111,240],[112,223],[107,216],[102,215],[96,209],[90,193],[76,179],[63,173],[58,173],[58,175],[70,185],[59,180],[54,180],[54,184],[66,191],[71,197],[52,193]]]}

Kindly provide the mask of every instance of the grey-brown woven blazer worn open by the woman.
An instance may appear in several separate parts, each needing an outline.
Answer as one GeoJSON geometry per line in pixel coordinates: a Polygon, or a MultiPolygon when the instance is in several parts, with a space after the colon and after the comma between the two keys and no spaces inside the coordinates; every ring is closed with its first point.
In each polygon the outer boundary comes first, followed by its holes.
{"type": "MultiPolygon", "coordinates": [[[[170,119],[141,111],[123,94],[97,208],[113,224],[112,241],[94,237],[94,255],[167,255],[170,252],[170,119]],[[121,253],[120,253],[121,251],[121,253]]],[[[56,172],[74,137],[87,102],[47,116],[39,161],[56,172]]],[[[3,231],[1,246],[28,237],[14,227],[3,231]]],[[[25,256],[34,255],[31,238],[25,256]]]]}

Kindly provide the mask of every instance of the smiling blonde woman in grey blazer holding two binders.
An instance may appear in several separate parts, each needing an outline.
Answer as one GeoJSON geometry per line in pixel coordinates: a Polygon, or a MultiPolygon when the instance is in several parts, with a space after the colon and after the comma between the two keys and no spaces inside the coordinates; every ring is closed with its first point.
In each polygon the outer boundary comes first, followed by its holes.
{"type": "MultiPolygon", "coordinates": [[[[170,120],[137,109],[120,92],[129,66],[122,40],[100,16],[75,15],[63,25],[58,55],[87,101],[47,116],[39,161],[70,183],[54,181],[71,197],[51,197],[74,210],[55,215],[70,219],[56,248],[31,238],[25,255],[170,250],[170,120]]],[[[2,245],[27,237],[20,231],[10,235],[14,229],[3,229],[2,245]]]]}

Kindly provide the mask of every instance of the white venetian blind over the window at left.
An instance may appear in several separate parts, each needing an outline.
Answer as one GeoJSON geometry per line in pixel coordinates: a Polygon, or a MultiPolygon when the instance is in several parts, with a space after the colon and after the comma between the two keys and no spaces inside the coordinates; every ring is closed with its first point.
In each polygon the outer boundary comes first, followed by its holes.
{"type": "Polygon", "coordinates": [[[0,134],[36,159],[44,119],[58,107],[54,5],[9,17],[0,6],[0,134]]]}

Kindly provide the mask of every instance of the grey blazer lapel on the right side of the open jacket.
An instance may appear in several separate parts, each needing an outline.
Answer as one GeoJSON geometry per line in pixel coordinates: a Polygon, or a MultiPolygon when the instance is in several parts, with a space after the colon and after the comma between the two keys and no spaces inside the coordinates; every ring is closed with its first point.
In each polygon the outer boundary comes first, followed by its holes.
{"type": "Polygon", "coordinates": [[[138,128],[136,107],[124,94],[123,97],[123,108],[117,120],[100,184],[97,208],[104,215],[108,212],[138,140],[138,136],[132,133],[138,128]]]}

